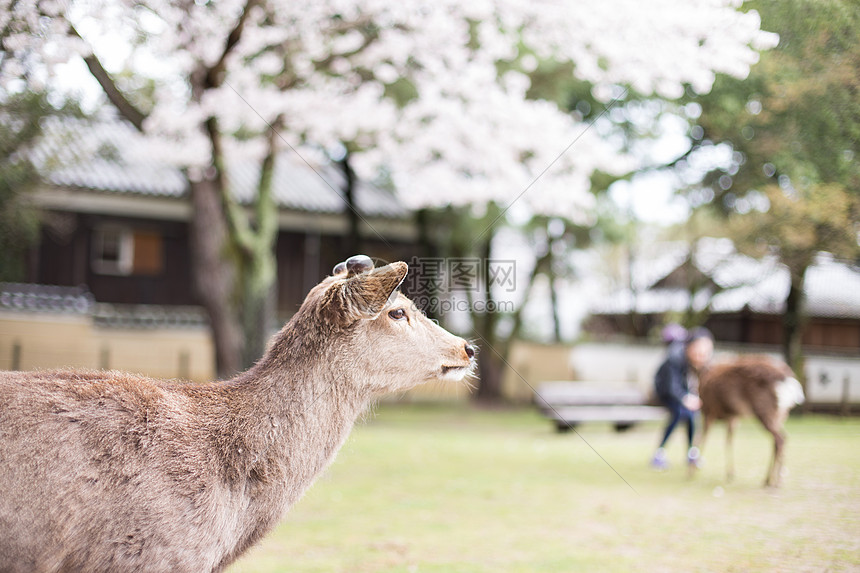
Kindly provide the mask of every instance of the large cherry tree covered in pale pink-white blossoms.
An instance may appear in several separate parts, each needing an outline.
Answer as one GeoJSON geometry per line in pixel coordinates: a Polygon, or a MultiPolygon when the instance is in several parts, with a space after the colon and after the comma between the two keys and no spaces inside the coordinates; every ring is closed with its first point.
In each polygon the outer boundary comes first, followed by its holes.
{"type": "Polygon", "coordinates": [[[0,0],[0,85],[56,89],[57,67],[81,60],[152,153],[184,169],[196,287],[226,374],[262,348],[285,146],[342,147],[359,176],[384,168],[410,207],[496,205],[489,257],[512,204],[587,222],[592,173],[634,167],[581,115],[531,97],[530,74],[568,64],[609,107],[628,92],[707,92],[774,44],[740,4],[0,0]],[[239,157],[260,166],[250,216],[225,175],[239,157]]]}

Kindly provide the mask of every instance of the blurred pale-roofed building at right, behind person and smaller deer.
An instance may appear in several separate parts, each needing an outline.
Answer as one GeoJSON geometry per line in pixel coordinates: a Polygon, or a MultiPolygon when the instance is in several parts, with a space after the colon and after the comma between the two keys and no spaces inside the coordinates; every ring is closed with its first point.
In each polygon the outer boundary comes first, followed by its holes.
{"type": "MultiPolygon", "coordinates": [[[[648,276],[635,289],[620,289],[592,303],[589,332],[633,334],[631,320],[647,332],[692,312],[706,317],[719,341],[781,343],[790,277],[776,258],[740,254],[728,239],[702,239],[692,253],[686,245],[669,245],[657,259],[648,261],[651,272],[640,273],[648,276]]],[[[860,352],[860,267],[819,253],[807,269],[804,296],[804,344],[860,352]]]]}

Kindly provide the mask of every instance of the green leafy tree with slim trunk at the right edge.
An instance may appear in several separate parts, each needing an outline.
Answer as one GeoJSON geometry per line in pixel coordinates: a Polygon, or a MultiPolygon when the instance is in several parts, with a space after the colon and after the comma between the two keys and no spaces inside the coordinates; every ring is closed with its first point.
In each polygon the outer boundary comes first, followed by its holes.
{"type": "MultiPolygon", "coordinates": [[[[745,81],[718,78],[692,129],[695,154],[712,143],[732,161],[689,194],[727,219],[726,233],[751,254],[788,268],[783,353],[803,372],[803,286],[819,251],[860,256],[860,10],[854,0],[745,4],[780,35],[745,81]]],[[[679,167],[686,167],[680,162],[679,167]]]]}

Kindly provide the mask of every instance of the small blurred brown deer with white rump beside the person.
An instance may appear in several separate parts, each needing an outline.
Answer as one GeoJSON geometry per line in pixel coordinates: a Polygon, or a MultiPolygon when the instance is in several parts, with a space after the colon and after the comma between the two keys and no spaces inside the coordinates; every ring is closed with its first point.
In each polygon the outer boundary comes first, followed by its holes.
{"type": "Polygon", "coordinates": [[[767,356],[748,356],[706,368],[700,375],[702,399],[701,444],[715,420],[726,422],[726,479],[734,478],[732,437],[737,420],[753,415],[773,435],[773,459],[765,485],[779,485],[788,412],[803,403],[803,388],[791,369],[767,356]]]}

